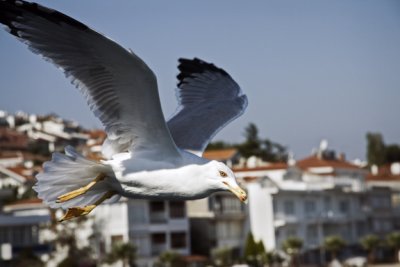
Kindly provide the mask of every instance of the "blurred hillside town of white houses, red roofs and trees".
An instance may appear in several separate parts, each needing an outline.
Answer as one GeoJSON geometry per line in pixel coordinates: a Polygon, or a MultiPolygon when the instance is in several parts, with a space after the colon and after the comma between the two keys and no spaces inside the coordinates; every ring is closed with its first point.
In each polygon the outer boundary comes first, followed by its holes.
{"type": "Polygon", "coordinates": [[[36,197],[35,175],[52,152],[67,145],[101,160],[105,137],[54,114],[0,111],[0,266],[326,266],[357,257],[398,260],[400,162],[353,162],[326,141],[308,157],[284,162],[244,157],[236,148],[207,150],[205,158],[233,169],[248,192],[247,205],[229,193],[187,202],[121,199],[58,223],[63,211],[36,197]]]}

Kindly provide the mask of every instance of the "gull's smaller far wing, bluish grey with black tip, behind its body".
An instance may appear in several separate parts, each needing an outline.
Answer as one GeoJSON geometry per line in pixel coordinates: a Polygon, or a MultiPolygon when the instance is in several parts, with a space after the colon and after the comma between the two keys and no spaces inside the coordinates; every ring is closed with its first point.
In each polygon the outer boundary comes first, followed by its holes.
{"type": "Polygon", "coordinates": [[[247,97],[229,74],[198,58],[179,59],[179,106],[168,120],[176,145],[201,155],[211,138],[243,114],[247,97]]]}

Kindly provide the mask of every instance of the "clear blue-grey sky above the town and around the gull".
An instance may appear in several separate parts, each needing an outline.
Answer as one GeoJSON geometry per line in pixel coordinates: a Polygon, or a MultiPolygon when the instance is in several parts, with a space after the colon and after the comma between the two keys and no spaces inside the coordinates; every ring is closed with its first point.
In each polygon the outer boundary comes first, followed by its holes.
{"type": "MultiPolygon", "coordinates": [[[[224,68],[249,99],[214,140],[261,138],[299,159],[326,139],[365,159],[367,132],[400,143],[397,0],[37,1],[131,48],[157,75],[164,116],[176,109],[177,59],[224,68]]],[[[0,110],[56,113],[100,128],[62,72],[0,31],[0,110]]]]}

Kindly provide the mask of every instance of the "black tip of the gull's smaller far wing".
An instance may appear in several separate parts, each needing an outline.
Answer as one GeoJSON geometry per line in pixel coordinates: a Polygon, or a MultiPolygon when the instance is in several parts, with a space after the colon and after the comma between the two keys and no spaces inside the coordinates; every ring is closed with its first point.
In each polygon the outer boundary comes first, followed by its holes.
{"type": "Polygon", "coordinates": [[[178,62],[178,69],[180,71],[180,73],[176,76],[176,78],[178,79],[178,87],[180,87],[184,83],[184,80],[186,78],[193,77],[193,75],[196,73],[209,71],[218,72],[222,75],[229,76],[229,74],[225,70],[196,57],[194,59],[179,58],[178,62]]]}

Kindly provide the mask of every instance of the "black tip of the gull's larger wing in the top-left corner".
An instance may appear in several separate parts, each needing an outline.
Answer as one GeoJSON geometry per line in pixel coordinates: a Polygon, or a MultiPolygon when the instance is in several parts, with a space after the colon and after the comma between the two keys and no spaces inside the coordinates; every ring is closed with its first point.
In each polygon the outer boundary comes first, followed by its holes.
{"type": "Polygon", "coordinates": [[[16,26],[15,22],[28,19],[26,18],[27,15],[40,16],[53,23],[65,23],[81,30],[88,29],[85,24],[61,12],[41,6],[37,3],[31,3],[23,0],[0,0],[0,23],[7,26],[8,31],[12,35],[17,37],[19,36],[18,31],[20,29],[18,29],[18,26],[16,26]]]}

